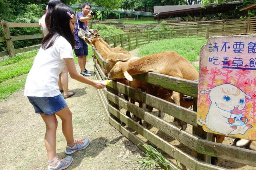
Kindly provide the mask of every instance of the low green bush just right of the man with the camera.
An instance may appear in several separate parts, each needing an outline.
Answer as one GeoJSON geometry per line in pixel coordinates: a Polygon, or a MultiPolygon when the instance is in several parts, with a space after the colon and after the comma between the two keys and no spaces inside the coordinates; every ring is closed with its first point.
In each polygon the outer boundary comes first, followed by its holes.
{"type": "Polygon", "coordinates": [[[97,29],[102,37],[124,33],[121,29],[117,29],[114,25],[96,24],[93,29],[97,29]]]}

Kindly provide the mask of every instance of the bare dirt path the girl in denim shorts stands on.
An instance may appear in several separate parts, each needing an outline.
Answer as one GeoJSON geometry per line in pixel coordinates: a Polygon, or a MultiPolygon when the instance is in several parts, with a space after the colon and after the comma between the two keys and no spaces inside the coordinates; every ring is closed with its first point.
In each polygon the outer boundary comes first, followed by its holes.
{"type": "MultiPolygon", "coordinates": [[[[93,70],[93,62],[86,64],[93,70]]],[[[78,68],[78,66],[77,66],[78,68]]],[[[94,75],[90,77],[94,79],[94,75]]],[[[90,139],[88,148],[72,154],[74,170],[131,170],[137,169],[143,152],[106,121],[100,98],[92,86],[69,79],[69,89],[76,94],[66,102],[73,113],[75,139],[90,139]]],[[[45,125],[34,113],[24,89],[0,102],[0,169],[40,170],[47,168],[44,147],[45,125]]],[[[65,138],[58,119],[56,151],[66,156],[65,138]]]]}

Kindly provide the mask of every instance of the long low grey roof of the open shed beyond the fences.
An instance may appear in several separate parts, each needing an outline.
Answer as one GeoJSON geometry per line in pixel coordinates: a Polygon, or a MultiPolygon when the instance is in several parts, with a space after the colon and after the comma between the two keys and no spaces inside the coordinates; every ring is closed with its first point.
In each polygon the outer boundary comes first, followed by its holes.
{"type": "Polygon", "coordinates": [[[242,5],[243,0],[227,2],[226,4],[214,7],[214,4],[208,4],[202,8],[201,4],[197,5],[174,5],[174,6],[154,6],[154,16],[156,19],[182,17],[182,16],[204,16],[207,14],[226,13],[229,10],[242,5]]]}

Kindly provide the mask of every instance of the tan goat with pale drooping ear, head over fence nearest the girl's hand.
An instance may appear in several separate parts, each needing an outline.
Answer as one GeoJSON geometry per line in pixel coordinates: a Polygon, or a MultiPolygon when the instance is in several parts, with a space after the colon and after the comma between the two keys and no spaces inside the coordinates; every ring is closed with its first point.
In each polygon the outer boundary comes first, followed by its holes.
{"type": "MultiPolygon", "coordinates": [[[[146,72],[157,72],[187,80],[197,80],[196,68],[185,58],[173,51],[166,51],[142,57],[136,61],[117,62],[108,73],[110,79],[126,78],[132,81],[131,75],[143,74],[146,72]]],[[[172,92],[172,99],[180,106],[180,94],[172,92]]],[[[186,123],[178,120],[180,129],[186,129],[186,123]]]]}

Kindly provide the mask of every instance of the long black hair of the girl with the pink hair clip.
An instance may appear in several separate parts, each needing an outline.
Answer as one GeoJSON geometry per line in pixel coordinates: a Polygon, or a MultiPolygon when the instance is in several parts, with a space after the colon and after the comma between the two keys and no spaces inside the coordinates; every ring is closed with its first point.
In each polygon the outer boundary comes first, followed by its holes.
{"type": "Polygon", "coordinates": [[[76,17],[72,9],[65,4],[59,4],[54,7],[50,18],[49,33],[42,40],[42,49],[48,49],[52,47],[56,38],[59,36],[64,37],[74,49],[75,40],[74,34],[70,29],[69,22],[71,18],[68,13],[74,14],[74,17],[76,17]]]}

